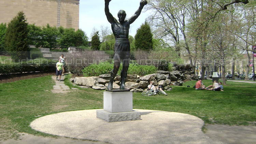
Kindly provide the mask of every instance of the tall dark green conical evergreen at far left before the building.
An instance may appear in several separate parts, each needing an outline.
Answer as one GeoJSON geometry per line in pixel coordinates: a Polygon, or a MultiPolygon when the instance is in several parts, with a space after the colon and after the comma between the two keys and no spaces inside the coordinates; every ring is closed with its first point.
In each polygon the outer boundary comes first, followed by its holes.
{"type": "Polygon", "coordinates": [[[8,24],[5,48],[16,62],[29,58],[28,23],[23,12],[19,12],[8,24]]]}

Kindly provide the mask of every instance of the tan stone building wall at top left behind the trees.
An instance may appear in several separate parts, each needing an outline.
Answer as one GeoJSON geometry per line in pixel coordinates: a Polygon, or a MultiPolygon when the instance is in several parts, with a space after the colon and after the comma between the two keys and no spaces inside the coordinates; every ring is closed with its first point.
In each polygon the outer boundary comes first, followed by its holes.
{"type": "MultiPolygon", "coordinates": [[[[79,0],[61,0],[60,26],[79,29],[79,0]]],[[[29,24],[57,26],[57,0],[0,0],[0,23],[8,24],[23,11],[29,24]]]]}

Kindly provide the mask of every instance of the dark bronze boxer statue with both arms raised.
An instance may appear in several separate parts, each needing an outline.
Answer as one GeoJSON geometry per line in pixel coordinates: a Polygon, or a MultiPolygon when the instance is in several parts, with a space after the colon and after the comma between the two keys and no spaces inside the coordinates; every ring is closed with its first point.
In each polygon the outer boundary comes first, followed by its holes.
{"type": "Polygon", "coordinates": [[[135,12],[135,14],[129,19],[125,19],[126,13],[124,10],[120,10],[117,14],[118,21],[113,17],[113,15],[109,12],[109,2],[111,0],[105,0],[105,14],[106,17],[111,24],[111,28],[113,34],[115,36],[115,49],[114,49],[114,69],[111,71],[111,78],[108,84],[107,89],[113,89],[113,80],[117,74],[117,71],[120,67],[120,62],[123,62],[123,68],[121,71],[121,83],[120,89],[127,89],[125,86],[125,79],[127,77],[127,71],[129,68],[130,61],[130,42],[128,40],[129,37],[129,28],[130,24],[132,24],[140,15],[143,7],[147,4],[146,0],[141,0],[139,9],[135,12]]]}

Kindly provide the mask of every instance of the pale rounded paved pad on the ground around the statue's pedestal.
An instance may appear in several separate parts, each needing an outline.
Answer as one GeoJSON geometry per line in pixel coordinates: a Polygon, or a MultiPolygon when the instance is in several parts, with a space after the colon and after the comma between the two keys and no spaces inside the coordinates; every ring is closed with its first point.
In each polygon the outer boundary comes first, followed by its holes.
{"type": "Polygon", "coordinates": [[[113,144],[225,144],[204,134],[203,120],[198,117],[136,111],[141,112],[142,120],[108,123],[96,117],[96,110],[83,110],[43,116],[32,121],[30,127],[48,134],[113,144]]]}

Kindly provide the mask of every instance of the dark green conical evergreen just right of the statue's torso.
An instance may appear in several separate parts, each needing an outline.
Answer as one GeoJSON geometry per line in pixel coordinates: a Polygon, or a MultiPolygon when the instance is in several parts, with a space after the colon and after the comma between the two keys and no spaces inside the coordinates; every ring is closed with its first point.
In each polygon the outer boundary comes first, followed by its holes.
{"type": "Polygon", "coordinates": [[[134,44],[136,49],[141,49],[145,51],[150,51],[153,49],[153,34],[151,32],[150,26],[147,24],[146,21],[137,30],[137,33],[134,38],[134,44]]]}

